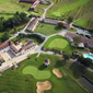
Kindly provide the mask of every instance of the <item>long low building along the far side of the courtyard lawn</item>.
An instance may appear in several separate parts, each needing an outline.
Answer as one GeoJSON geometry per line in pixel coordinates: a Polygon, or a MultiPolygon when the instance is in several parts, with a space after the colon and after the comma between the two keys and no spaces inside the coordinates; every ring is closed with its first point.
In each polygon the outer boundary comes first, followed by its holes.
{"type": "MultiPolygon", "coordinates": [[[[62,22],[62,21],[59,21],[59,20],[53,20],[53,19],[44,19],[44,23],[48,23],[48,24],[55,24],[57,25],[58,22],[62,22]]],[[[66,22],[62,22],[63,23],[63,26],[67,28],[69,27],[69,24],[66,23],[66,22]]]]}

